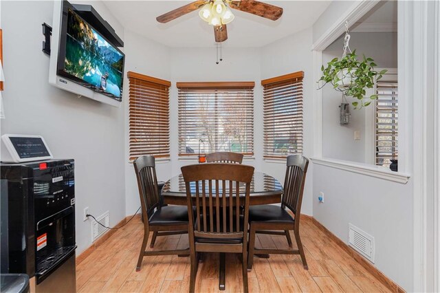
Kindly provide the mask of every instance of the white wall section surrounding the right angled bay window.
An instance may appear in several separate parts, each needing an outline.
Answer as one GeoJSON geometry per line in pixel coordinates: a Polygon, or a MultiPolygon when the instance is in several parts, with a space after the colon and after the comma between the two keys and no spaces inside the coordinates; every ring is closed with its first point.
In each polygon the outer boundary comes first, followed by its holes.
{"type": "MultiPolygon", "coordinates": [[[[313,91],[316,90],[316,83],[313,76],[313,54],[310,50],[312,39],[312,30],[308,28],[287,36],[280,41],[261,48],[261,79],[272,78],[289,74],[292,72],[304,72],[304,150],[306,157],[313,155],[313,91]]],[[[259,85],[261,87],[261,85],[259,85]]],[[[256,128],[263,128],[263,112],[258,113],[259,125],[256,128]]],[[[263,136],[258,138],[256,145],[263,146],[263,136]]],[[[259,158],[263,158],[263,153],[259,158]]],[[[263,161],[263,170],[273,174],[282,184],[285,177],[285,162],[263,161]]],[[[313,182],[313,164],[309,164],[307,173],[303,206],[301,213],[312,215],[312,182],[313,182]]]]}

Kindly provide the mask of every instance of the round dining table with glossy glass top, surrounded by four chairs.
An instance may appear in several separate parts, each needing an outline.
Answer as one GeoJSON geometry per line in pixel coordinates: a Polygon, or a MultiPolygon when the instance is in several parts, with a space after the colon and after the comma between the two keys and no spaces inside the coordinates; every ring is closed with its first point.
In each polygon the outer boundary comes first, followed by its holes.
{"type": "MultiPolygon", "coordinates": [[[[208,186],[208,184],[206,185],[208,186]]],[[[282,194],[283,186],[276,178],[263,172],[254,172],[250,184],[250,206],[279,204],[282,194]]],[[[240,203],[243,204],[244,189],[243,195],[240,194],[239,197],[240,203]]],[[[162,187],[162,200],[164,204],[187,206],[185,181],[181,174],[171,177],[165,182],[162,187]]],[[[223,252],[220,253],[219,261],[219,290],[225,290],[225,253],[223,252]]]]}

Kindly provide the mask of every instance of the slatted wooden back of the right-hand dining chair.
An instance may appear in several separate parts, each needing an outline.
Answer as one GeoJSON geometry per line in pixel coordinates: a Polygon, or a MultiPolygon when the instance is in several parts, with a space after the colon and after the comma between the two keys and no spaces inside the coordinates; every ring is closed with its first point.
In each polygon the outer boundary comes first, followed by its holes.
{"type": "Polygon", "coordinates": [[[289,155],[286,165],[284,193],[281,204],[287,206],[296,216],[297,213],[300,213],[301,203],[303,202],[305,176],[309,160],[303,155],[289,155]]]}

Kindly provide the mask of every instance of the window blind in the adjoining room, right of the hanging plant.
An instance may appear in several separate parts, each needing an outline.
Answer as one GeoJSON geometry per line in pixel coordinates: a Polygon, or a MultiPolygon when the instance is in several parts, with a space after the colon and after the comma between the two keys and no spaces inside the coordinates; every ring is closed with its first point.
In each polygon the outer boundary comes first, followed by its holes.
{"type": "Polygon", "coordinates": [[[377,165],[390,166],[391,160],[397,160],[397,83],[377,82],[376,94],[375,160],[377,165]]]}

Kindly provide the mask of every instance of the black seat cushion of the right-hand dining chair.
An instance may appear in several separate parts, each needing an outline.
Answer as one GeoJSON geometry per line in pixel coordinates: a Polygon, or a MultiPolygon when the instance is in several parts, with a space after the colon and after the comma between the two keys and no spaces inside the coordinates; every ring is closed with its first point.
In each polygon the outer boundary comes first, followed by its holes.
{"type": "Polygon", "coordinates": [[[262,204],[259,206],[249,207],[249,222],[252,221],[292,224],[294,222],[294,218],[292,218],[284,208],[281,208],[281,206],[262,204]]]}

